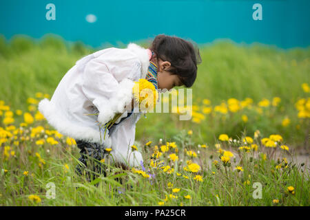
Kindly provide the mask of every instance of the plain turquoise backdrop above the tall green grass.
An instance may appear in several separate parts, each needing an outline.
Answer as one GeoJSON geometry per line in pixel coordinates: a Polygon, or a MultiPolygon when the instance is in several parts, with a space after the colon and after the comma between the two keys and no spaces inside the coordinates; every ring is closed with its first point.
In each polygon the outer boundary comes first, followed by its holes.
{"type": "Polygon", "coordinates": [[[26,34],[34,39],[54,33],[67,41],[129,43],[157,34],[211,43],[231,39],[236,43],[265,43],[282,48],[310,45],[310,1],[21,1],[1,0],[0,34],[10,39],[26,34]],[[48,21],[45,6],[54,3],[56,20],[48,21]],[[254,21],[254,3],[262,5],[262,20],[254,21]],[[87,22],[87,14],[96,21],[87,22]]]}

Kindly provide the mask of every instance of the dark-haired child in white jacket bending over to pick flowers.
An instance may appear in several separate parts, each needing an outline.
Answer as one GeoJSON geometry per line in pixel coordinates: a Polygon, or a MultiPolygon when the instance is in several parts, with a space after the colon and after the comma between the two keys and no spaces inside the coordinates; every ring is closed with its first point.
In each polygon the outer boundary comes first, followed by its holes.
{"type": "MultiPolygon", "coordinates": [[[[76,140],[81,149],[79,160],[85,166],[87,157],[100,161],[108,153],[123,167],[141,166],[141,153],[131,148],[141,112],[125,111],[134,108],[134,81],[146,78],[156,89],[192,87],[200,62],[199,50],[192,43],[163,34],[156,36],[148,49],[130,43],[125,49],[99,50],[76,62],[61,79],[51,100],[39,102],[39,111],[56,130],[76,140]],[[100,126],[115,113],[123,114],[103,139],[100,126]]],[[[81,173],[81,166],[76,170],[81,173]]]]}

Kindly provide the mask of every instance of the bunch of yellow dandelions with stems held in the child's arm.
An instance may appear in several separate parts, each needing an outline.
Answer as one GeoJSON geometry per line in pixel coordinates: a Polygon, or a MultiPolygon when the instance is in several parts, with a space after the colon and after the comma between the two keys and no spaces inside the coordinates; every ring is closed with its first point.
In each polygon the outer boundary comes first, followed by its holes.
{"type": "MultiPolygon", "coordinates": [[[[134,102],[138,103],[139,109],[145,114],[147,111],[152,111],[156,105],[156,100],[158,99],[158,92],[154,85],[148,80],[141,78],[138,82],[134,82],[134,87],[132,87],[132,95],[134,102]]],[[[95,115],[98,115],[96,113],[95,115]]],[[[101,125],[100,129],[104,128],[105,133],[107,129],[110,129],[111,126],[121,117],[123,113],[117,113],[114,115],[114,118],[107,122],[106,124],[101,125]]],[[[105,133],[103,139],[105,139],[105,133]]]]}

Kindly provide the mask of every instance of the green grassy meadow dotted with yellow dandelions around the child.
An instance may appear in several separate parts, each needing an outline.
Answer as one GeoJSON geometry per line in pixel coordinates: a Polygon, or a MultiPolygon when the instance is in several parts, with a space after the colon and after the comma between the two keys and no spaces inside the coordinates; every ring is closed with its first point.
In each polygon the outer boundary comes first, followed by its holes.
{"type": "Polygon", "coordinates": [[[310,47],[199,45],[192,119],[147,113],[134,144],[143,166],[122,170],[110,156],[98,162],[108,175],[87,181],[75,141],[37,104],[110,46],[0,36],[0,206],[309,206],[310,47]]]}

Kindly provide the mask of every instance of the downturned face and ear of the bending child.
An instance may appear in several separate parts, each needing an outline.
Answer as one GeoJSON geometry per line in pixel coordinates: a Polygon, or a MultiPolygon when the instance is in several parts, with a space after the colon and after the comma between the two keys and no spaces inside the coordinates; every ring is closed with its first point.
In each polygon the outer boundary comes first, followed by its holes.
{"type": "MultiPolygon", "coordinates": [[[[152,62],[156,63],[156,58],[153,58],[152,62]]],[[[173,87],[179,87],[183,85],[178,75],[172,74],[171,72],[166,70],[169,69],[170,66],[171,63],[169,61],[162,61],[161,58],[159,59],[159,67],[157,72],[158,89],[169,90],[173,87]]]]}

